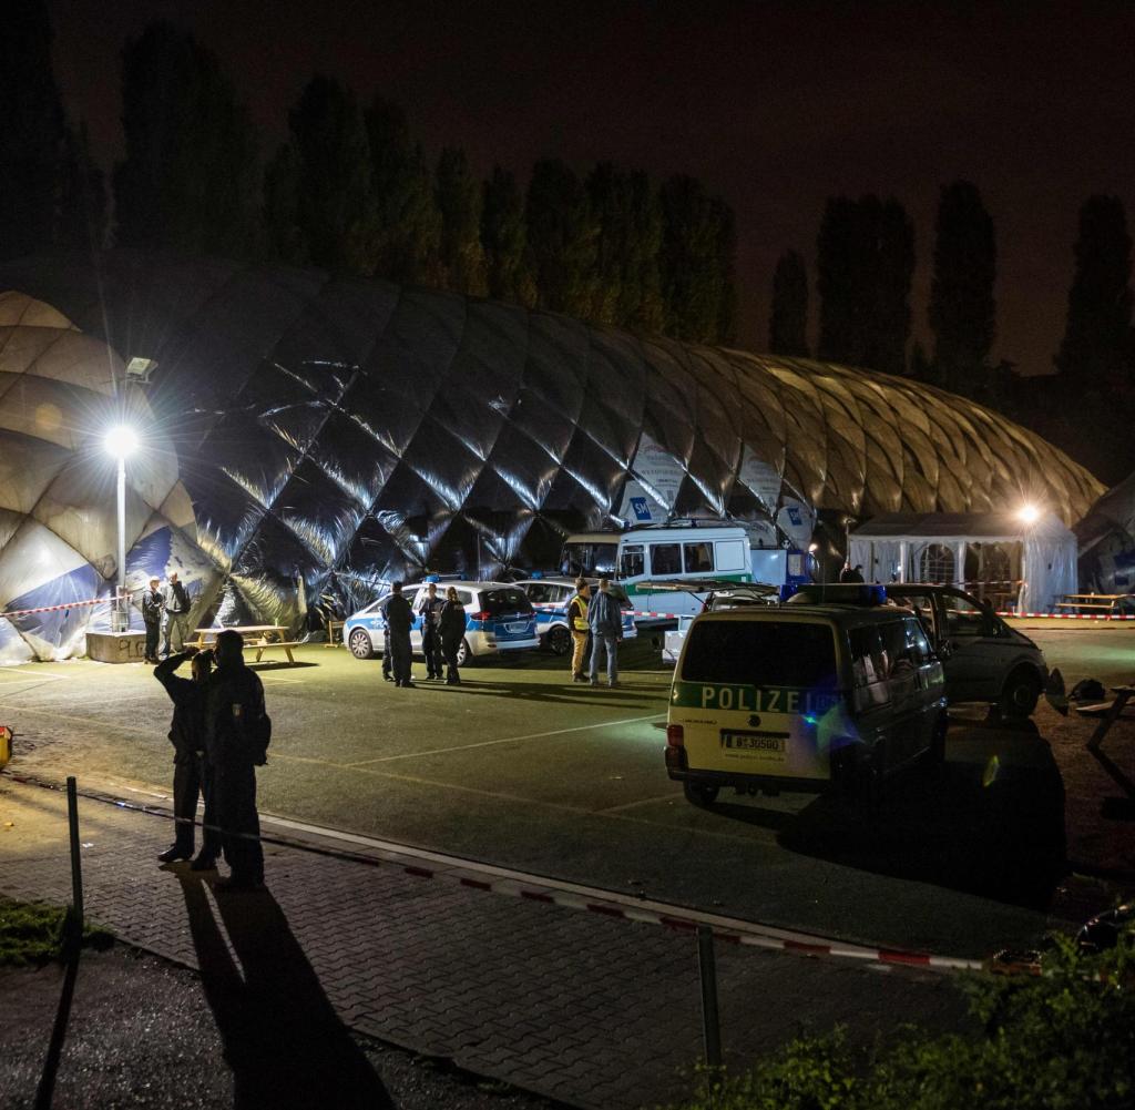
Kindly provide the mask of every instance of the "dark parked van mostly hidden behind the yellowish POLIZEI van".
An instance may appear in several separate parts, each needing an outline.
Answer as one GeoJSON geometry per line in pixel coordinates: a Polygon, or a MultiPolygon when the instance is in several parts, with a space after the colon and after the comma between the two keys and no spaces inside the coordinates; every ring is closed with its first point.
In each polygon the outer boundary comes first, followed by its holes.
{"type": "Polygon", "coordinates": [[[808,586],[787,604],[871,605],[883,599],[923,621],[945,668],[950,704],[986,701],[1002,716],[1027,717],[1048,681],[1044,653],[989,605],[953,586],[889,582],[885,586],[808,586]]]}

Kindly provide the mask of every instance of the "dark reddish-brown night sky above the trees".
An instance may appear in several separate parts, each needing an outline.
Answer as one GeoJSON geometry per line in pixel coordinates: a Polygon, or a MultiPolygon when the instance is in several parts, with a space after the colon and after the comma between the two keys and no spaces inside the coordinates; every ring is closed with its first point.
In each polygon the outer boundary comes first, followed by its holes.
{"type": "MultiPolygon", "coordinates": [[[[220,57],[270,149],[314,70],[401,103],[432,159],[463,146],[522,180],[533,159],[687,173],[738,219],[739,345],[764,350],[772,271],[815,279],[827,196],[893,194],[915,221],[914,325],[940,187],[967,177],[1000,252],[995,358],[1048,372],[1081,202],[1135,220],[1129,5],[53,0],[56,66],[107,167],[120,152],[118,52],[168,17],[220,57]]],[[[813,316],[815,292],[813,289],[813,316]]]]}

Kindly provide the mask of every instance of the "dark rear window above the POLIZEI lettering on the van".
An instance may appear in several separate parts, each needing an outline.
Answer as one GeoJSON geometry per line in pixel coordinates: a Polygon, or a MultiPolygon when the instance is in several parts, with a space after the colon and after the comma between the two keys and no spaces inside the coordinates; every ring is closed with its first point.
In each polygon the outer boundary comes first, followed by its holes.
{"type": "Polygon", "coordinates": [[[835,687],[835,637],[826,624],[703,621],[690,629],[682,681],[835,687]]]}

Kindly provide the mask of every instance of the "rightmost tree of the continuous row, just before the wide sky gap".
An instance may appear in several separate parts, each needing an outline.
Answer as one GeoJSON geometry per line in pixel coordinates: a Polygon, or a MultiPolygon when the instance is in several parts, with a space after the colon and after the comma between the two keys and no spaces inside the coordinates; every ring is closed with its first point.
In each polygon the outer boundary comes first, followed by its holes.
{"type": "Polygon", "coordinates": [[[732,338],[733,213],[692,177],[670,178],[659,191],[663,215],[659,270],[666,334],[699,343],[732,338]]]}

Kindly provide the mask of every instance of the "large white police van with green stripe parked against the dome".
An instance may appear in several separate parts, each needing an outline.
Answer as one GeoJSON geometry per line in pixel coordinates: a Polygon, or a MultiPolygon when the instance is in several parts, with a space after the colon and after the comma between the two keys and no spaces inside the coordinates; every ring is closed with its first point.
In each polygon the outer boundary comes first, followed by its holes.
{"type": "Polygon", "coordinates": [[[698,613],[701,598],[650,589],[656,581],[731,579],[753,581],[748,533],[738,524],[691,520],[684,525],[579,532],[564,540],[562,574],[612,578],[637,611],[698,613]]]}

